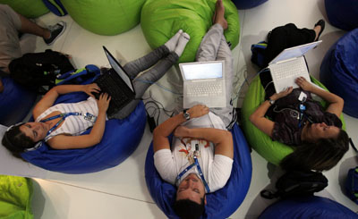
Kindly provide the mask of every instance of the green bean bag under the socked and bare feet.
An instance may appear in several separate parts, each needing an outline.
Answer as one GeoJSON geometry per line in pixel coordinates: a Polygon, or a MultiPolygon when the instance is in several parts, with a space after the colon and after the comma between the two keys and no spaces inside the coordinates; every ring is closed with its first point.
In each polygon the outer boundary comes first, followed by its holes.
{"type": "MultiPolygon", "coordinates": [[[[239,14],[230,0],[223,2],[228,23],[225,37],[233,49],[239,43],[239,14]]],[[[212,25],[215,3],[216,0],[147,0],[141,10],[141,29],[149,46],[161,46],[183,29],[191,39],[179,63],[193,62],[201,39],[212,25]]]]}

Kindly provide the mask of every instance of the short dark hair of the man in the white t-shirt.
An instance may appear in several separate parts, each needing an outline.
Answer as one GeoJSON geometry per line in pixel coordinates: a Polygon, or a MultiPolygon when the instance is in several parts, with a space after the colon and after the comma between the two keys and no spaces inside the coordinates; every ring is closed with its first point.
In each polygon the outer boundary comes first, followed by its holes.
{"type": "MultiPolygon", "coordinates": [[[[204,196],[205,198],[205,196],[204,196]]],[[[190,199],[175,200],[174,211],[182,219],[197,219],[200,218],[205,211],[204,198],[201,198],[201,203],[198,204],[190,199]]]]}

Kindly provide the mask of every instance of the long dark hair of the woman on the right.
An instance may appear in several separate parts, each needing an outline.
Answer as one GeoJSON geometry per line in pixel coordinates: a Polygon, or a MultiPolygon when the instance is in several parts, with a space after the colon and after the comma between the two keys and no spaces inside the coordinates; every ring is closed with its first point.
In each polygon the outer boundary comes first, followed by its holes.
{"type": "Polygon", "coordinates": [[[294,153],[285,157],[280,165],[289,170],[327,171],[334,167],[349,148],[349,138],[340,130],[337,139],[319,139],[315,143],[304,143],[294,153]]]}

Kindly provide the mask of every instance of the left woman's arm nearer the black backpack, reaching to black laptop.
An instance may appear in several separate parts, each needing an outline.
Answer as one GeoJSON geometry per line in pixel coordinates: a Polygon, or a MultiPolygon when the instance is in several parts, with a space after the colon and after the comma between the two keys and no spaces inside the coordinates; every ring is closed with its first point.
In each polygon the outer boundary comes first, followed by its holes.
{"type": "Polygon", "coordinates": [[[35,105],[35,108],[32,112],[33,117],[35,119],[38,118],[38,115],[42,114],[49,107],[54,105],[55,100],[60,95],[64,95],[64,94],[72,93],[72,92],[79,92],[79,91],[85,92],[89,96],[93,97],[91,92],[98,93],[100,91],[100,88],[95,83],[87,84],[87,85],[59,85],[59,86],[55,86],[54,88],[51,88],[50,90],[48,90],[46,95],[44,97],[42,97],[40,101],[38,101],[37,105],[35,105]]]}

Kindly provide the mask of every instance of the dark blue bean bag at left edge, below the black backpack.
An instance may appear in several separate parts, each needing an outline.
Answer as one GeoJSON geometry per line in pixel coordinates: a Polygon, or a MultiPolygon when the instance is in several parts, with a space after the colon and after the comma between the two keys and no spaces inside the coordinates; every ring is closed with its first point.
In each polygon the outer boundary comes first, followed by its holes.
{"type": "Polygon", "coordinates": [[[0,124],[10,126],[21,122],[35,103],[36,93],[23,88],[10,77],[3,81],[4,91],[0,93],[0,124]]]}

